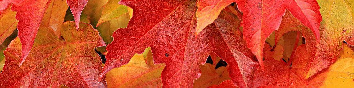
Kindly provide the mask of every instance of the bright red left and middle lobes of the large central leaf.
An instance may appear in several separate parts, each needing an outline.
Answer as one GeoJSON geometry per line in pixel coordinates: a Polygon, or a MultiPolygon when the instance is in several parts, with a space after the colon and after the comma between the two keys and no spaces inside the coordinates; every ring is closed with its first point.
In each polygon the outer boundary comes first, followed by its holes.
{"type": "Polygon", "coordinates": [[[164,87],[193,87],[200,76],[199,64],[209,55],[201,54],[205,46],[195,37],[195,0],[121,0],[119,4],[131,7],[133,17],[127,28],[113,33],[102,75],[150,46],[154,63],[166,64],[161,76],[164,87]]]}

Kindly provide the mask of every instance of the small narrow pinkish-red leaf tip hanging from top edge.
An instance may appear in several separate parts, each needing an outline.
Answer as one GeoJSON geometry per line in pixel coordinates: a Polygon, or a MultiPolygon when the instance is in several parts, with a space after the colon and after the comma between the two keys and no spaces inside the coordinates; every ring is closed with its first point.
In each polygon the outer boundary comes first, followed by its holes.
{"type": "Polygon", "coordinates": [[[87,1],[88,0],[67,0],[70,10],[73,13],[75,24],[76,24],[75,26],[77,29],[79,29],[81,12],[82,10],[84,10],[87,1]]]}

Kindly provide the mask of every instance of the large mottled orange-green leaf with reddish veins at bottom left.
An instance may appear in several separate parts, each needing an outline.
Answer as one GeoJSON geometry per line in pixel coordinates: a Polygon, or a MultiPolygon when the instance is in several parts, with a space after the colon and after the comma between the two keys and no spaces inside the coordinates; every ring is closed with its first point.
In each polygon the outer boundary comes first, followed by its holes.
{"type": "Polygon", "coordinates": [[[98,31],[89,24],[81,23],[79,30],[74,22],[63,23],[61,39],[45,27],[39,29],[33,52],[29,53],[21,67],[21,43],[13,40],[4,51],[6,63],[0,74],[1,87],[47,88],[59,87],[105,87],[101,58],[95,52],[101,40],[98,31]],[[90,36],[82,36],[90,35],[90,36]],[[82,53],[85,52],[85,53],[82,53]]]}

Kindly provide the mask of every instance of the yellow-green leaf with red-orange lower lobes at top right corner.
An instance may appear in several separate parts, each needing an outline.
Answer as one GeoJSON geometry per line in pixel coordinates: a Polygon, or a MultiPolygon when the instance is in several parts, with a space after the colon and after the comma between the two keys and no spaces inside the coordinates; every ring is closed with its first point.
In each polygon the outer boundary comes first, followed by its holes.
{"type": "MultiPolygon", "coordinates": [[[[307,76],[309,78],[322,69],[327,68],[331,63],[335,62],[339,50],[342,48],[342,42],[348,41],[348,44],[352,44],[353,40],[353,29],[354,20],[351,11],[354,10],[354,1],[351,0],[318,0],[321,7],[320,12],[322,13],[323,21],[320,26],[320,37],[321,41],[317,47],[315,36],[311,34],[310,29],[305,27],[303,24],[299,23],[298,20],[293,19],[294,17],[288,15],[287,19],[292,19],[292,23],[284,24],[289,26],[287,29],[280,29],[279,31],[290,31],[297,29],[302,31],[302,35],[306,40],[307,54],[309,60],[306,65],[307,76]]],[[[286,21],[286,20],[283,20],[286,21]]],[[[285,27],[286,28],[286,27],[285,27]]],[[[284,32],[279,32],[277,35],[281,35],[284,32]]]]}

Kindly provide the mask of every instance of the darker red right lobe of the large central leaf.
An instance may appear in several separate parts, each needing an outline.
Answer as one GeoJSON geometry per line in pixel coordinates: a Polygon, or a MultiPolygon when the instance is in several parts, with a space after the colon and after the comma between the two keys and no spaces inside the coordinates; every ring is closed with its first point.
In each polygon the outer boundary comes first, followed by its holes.
{"type": "Polygon", "coordinates": [[[244,46],[246,42],[242,39],[241,31],[238,30],[241,21],[236,17],[233,13],[222,11],[213,24],[198,34],[210,36],[198,36],[198,38],[209,39],[206,46],[214,46],[209,50],[230,65],[229,74],[235,85],[242,88],[252,87],[253,71],[258,64],[253,62],[257,60],[251,50],[244,46]]]}

